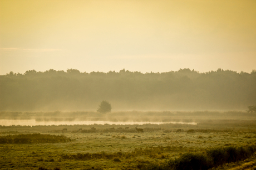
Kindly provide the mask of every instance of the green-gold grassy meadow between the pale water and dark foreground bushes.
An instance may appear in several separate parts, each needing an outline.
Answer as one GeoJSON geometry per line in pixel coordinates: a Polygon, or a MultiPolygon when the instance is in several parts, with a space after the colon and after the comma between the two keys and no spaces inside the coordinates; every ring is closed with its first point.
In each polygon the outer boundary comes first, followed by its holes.
{"type": "MultiPolygon", "coordinates": [[[[37,136],[40,133],[41,138],[48,135],[48,138],[65,136],[70,139],[2,143],[0,169],[139,169],[146,164],[161,164],[179,158],[185,153],[205,154],[213,148],[256,144],[254,117],[244,117],[243,120],[195,119],[198,120],[197,125],[139,125],[138,128],[143,128],[144,133],[138,133],[136,125],[0,126],[0,142],[1,138],[10,135],[17,138],[18,135],[33,133],[37,136]],[[178,129],[181,132],[176,132],[178,129]],[[194,132],[187,133],[191,129],[194,132]]],[[[255,159],[251,158],[249,162],[237,162],[227,169],[253,166],[255,159]]]]}

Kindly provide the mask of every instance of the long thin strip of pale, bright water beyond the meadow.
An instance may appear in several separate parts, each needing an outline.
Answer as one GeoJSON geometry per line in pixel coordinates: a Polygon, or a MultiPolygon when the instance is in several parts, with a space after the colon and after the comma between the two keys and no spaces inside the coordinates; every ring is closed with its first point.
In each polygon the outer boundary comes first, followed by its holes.
{"type": "Polygon", "coordinates": [[[136,122],[136,121],[127,121],[127,122],[114,122],[114,121],[36,121],[36,120],[0,120],[0,125],[2,126],[38,126],[38,125],[144,125],[144,124],[166,124],[166,123],[180,123],[188,125],[197,125],[196,122],[136,122]]]}

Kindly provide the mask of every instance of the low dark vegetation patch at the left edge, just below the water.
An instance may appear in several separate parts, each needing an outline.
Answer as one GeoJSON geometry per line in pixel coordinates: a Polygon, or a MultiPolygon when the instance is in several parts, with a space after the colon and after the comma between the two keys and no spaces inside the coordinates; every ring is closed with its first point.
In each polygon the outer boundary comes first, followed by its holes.
{"type": "Polygon", "coordinates": [[[0,137],[0,143],[60,143],[72,141],[63,135],[42,135],[40,133],[7,135],[0,137]]]}

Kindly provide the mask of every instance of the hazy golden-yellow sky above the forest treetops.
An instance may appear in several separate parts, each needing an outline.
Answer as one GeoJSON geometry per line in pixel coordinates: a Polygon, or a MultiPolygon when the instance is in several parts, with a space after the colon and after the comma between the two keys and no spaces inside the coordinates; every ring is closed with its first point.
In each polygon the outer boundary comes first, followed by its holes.
{"type": "Polygon", "coordinates": [[[0,0],[0,74],[251,72],[256,1],[0,0]]]}

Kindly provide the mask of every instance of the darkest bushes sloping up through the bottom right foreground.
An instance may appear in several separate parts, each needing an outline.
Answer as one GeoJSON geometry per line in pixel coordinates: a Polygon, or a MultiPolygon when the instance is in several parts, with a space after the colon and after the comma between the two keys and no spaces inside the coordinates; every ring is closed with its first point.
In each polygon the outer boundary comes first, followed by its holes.
{"type": "Polygon", "coordinates": [[[223,166],[225,163],[242,161],[249,158],[256,151],[256,145],[244,147],[213,148],[206,153],[185,153],[179,158],[170,159],[166,163],[141,164],[142,170],[181,170],[181,169],[210,169],[223,166]]]}

